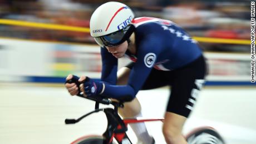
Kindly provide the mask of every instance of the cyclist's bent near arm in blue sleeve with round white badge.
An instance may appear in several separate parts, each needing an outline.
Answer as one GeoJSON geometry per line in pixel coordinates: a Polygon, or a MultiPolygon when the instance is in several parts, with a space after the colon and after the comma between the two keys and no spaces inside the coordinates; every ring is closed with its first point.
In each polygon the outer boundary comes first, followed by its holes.
{"type": "Polygon", "coordinates": [[[125,86],[114,86],[105,83],[103,96],[122,101],[131,101],[149,76],[157,56],[161,52],[162,42],[155,34],[148,35],[141,41],[137,51],[137,62],[131,69],[129,82],[125,86]]]}

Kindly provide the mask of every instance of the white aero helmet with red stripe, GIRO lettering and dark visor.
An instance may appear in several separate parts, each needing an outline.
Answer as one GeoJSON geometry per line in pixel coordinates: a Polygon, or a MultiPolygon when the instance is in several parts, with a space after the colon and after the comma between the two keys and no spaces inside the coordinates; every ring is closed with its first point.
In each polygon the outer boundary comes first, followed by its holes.
{"type": "Polygon", "coordinates": [[[134,13],[120,2],[107,2],[98,7],[90,20],[90,33],[101,46],[117,46],[129,39],[134,13]]]}

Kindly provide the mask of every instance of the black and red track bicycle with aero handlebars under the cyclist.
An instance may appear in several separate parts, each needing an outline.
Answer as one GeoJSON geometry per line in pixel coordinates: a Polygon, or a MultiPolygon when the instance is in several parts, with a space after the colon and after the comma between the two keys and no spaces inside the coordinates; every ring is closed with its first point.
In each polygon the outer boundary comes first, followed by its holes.
{"type": "MultiPolygon", "coordinates": [[[[71,82],[69,82],[71,83],[71,82]]],[[[81,94],[77,96],[86,98],[88,100],[95,101],[95,110],[81,116],[77,119],[66,119],[66,124],[73,124],[80,122],[83,118],[91,115],[92,113],[103,111],[107,118],[107,128],[106,131],[101,136],[90,135],[83,136],[73,141],[71,144],[111,144],[115,143],[113,140],[115,138],[118,144],[132,144],[130,138],[127,136],[127,125],[129,123],[137,122],[147,122],[147,121],[163,121],[162,118],[159,119],[122,119],[118,114],[118,108],[124,107],[124,102],[112,101],[109,98],[104,98],[100,96],[93,97],[83,97],[81,94]],[[99,104],[112,105],[114,108],[99,108],[99,104]]],[[[185,136],[186,141],[189,144],[225,144],[224,139],[220,134],[214,130],[212,127],[200,127],[191,131],[185,136]]]]}

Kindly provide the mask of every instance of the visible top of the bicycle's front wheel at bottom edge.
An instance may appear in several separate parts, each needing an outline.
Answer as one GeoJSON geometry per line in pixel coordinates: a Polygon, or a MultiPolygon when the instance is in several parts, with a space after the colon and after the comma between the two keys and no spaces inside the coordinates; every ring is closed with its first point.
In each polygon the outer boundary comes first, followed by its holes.
{"type": "MultiPolygon", "coordinates": [[[[107,144],[102,136],[83,136],[73,141],[71,144],[107,144]]],[[[115,144],[112,142],[112,144],[115,144]]]]}

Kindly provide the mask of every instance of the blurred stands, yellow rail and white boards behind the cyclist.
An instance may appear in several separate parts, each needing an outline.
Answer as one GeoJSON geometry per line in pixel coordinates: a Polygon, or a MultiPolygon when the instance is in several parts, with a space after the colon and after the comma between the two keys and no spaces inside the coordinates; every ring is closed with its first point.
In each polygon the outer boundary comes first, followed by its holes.
{"type": "MultiPolygon", "coordinates": [[[[99,78],[99,48],[90,36],[89,23],[93,11],[105,2],[1,0],[0,81],[43,82],[50,77],[46,82],[60,82],[68,73],[85,72],[99,78]],[[14,80],[8,79],[13,76],[14,80]]],[[[130,6],[136,17],[170,19],[185,28],[205,49],[209,80],[225,78],[250,85],[245,83],[250,81],[249,1],[121,2],[130,6]]]]}

